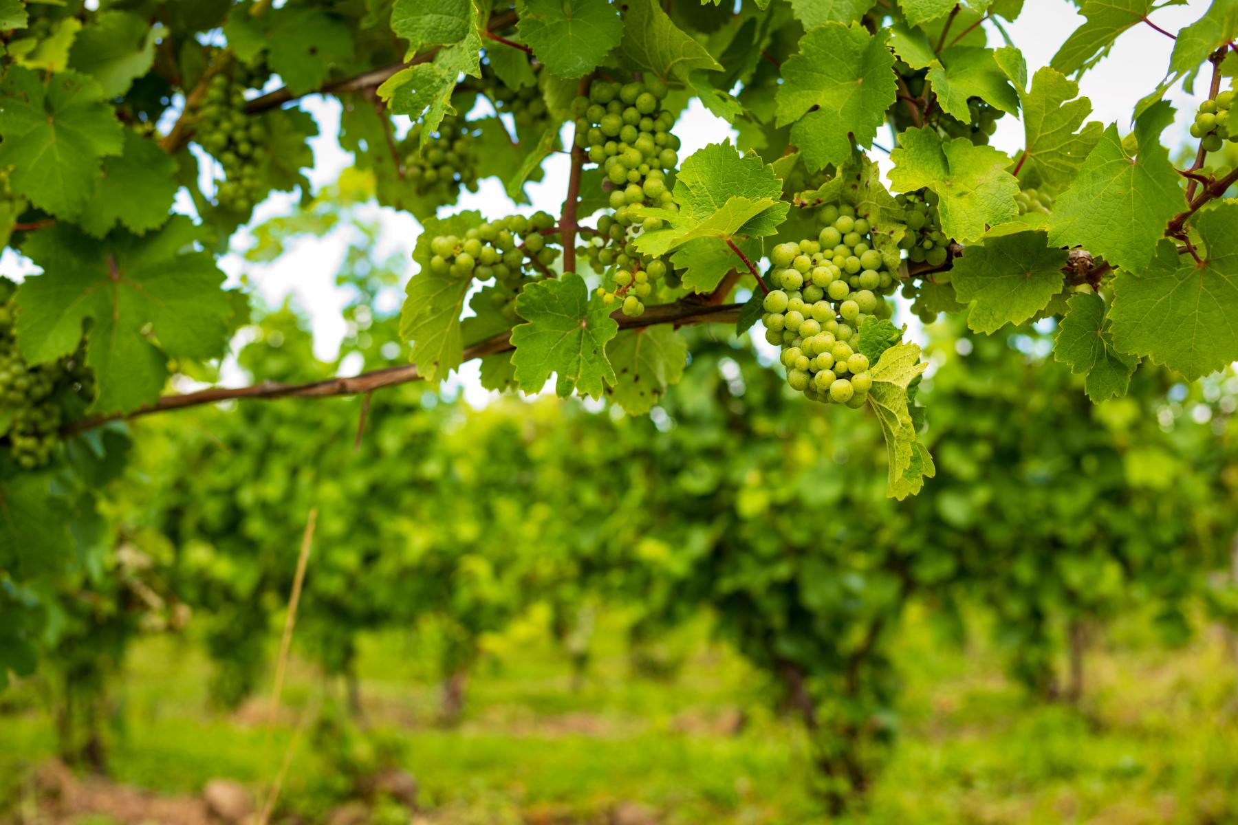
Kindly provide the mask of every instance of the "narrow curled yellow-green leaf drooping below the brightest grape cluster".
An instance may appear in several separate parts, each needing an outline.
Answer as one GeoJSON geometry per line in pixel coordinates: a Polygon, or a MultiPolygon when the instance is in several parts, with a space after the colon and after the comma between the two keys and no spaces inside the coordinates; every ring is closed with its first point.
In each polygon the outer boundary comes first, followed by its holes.
{"type": "Polygon", "coordinates": [[[868,404],[881,425],[889,459],[885,495],[900,501],[919,492],[926,476],[931,479],[937,474],[932,456],[916,438],[909,408],[907,387],[927,366],[920,360],[919,346],[898,344],[885,350],[869,370],[873,387],[868,392],[868,404]]]}

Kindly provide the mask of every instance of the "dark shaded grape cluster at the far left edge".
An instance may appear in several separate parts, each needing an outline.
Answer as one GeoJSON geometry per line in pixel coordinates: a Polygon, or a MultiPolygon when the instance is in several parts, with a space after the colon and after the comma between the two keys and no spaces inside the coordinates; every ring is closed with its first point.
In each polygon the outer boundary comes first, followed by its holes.
{"type": "Polygon", "coordinates": [[[17,351],[14,306],[0,304],[0,444],[19,466],[33,470],[52,459],[64,423],[57,395],[69,387],[93,395],[93,378],[80,351],[52,364],[30,366],[17,351]]]}

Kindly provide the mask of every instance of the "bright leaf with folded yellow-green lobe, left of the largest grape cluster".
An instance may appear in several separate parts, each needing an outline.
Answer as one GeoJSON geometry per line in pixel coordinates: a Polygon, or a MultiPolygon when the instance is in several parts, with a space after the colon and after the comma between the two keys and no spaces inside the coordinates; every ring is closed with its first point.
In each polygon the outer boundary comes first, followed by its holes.
{"type": "Polygon", "coordinates": [[[673,189],[678,212],[636,210],[669,224],[667,229],[641,234],[636,247],[664,255],[692,244],[686,259],[676,262],[693,267],[698,287],[711,282],[717,286],[738,262],[727,241],[773,235],[791,208],[781,195],[782,182],[760,157],[740,157],[729,142],[711,143],[688,156],[680,168],[673,189]]]}

